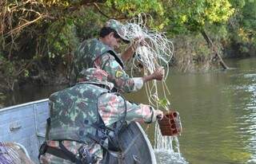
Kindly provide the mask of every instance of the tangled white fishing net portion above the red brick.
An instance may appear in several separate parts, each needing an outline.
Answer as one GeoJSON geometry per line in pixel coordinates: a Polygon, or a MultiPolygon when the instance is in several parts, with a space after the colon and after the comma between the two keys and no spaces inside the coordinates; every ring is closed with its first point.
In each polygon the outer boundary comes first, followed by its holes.
{"type": "MultiPolygon", "coordinates": [[[[159,99],[158,85],[155,80],[153,80],[151,84],[146,84],[146,94],[150,101],[150,105],[158,108],[162,103],[162,106],[168,110],[168,105],[170,104],[166,98],[166,91],[169,94],[170,92],[166,86],[166,77],[169,72],[169,62],[173,57],[174,46],[163,33],[147,29],[147,24],[149,23],[147,17],[150,16],[146,14],[138,14],[125,25],[126,37],[131,40],[131,45],[136,45],[134,44],[134,41],[140,42],[142,39],[145,40],[144,46],[133,47],[136,53],[132,59],[133,64],[131,74],[133,74],[134,68],[138,68],[135,63],[143,65],[144,76],[152,74],[161,66],[164,67],[166,76],[164,77],[164,80],[162,80],[162,90],[164,93],[162,100],[159,99]],[[164,102],[162,102],[163,100],[164,102]]],[[[152,19],[150,19],[150,21],[152,21],[152,19]]]]}

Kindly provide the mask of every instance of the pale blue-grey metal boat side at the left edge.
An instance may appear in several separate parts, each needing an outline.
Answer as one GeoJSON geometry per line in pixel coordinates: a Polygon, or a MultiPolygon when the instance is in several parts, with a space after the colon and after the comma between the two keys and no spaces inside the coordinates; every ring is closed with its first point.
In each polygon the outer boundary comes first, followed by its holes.
{"type": "Polygon", "coordinates": [[[38,163],[39,146],[45,139],[48,100],[22,103],[0,109],[0,141],[20,143],[38,163]]]}

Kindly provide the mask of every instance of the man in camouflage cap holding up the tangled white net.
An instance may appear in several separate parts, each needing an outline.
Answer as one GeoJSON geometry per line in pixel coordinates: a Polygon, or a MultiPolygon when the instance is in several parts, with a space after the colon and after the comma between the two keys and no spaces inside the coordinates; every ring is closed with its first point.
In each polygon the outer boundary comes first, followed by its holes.
{"type": "MultiPolygon", "coordinates": [[[[125,37],[124,25],[110,19],[101,29],[99,38],[83,41],[74,54],[74,62],[70,73],[70,85],[78,81],[78,74],[83,68],[101,68],[115,77],[115,92],[136,92],[149,80],[162,80],[163,68],[158,68],[150,76],[130,78],[124,71],[124,62],[128,61],[135,49],[143,45],[142,38],[136,38],[132,45],[122,53],[121,57],[114,51],[120,41],[129,42],[125,37]]],[[[114,79],[114,78],[113,78],[114,79]]]]}

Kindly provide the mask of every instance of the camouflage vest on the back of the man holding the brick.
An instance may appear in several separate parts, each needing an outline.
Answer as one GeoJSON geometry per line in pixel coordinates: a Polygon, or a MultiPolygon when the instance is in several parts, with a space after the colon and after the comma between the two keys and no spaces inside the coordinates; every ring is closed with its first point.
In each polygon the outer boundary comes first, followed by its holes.
{"type": "Polygon", "coordinates": [[[50,96],[50,131],[47,139],[71,139],[90,142],[95,135],[90,125],[98,123],[97,99],[107,89],[93,84],[76,84],[50,96]]]}

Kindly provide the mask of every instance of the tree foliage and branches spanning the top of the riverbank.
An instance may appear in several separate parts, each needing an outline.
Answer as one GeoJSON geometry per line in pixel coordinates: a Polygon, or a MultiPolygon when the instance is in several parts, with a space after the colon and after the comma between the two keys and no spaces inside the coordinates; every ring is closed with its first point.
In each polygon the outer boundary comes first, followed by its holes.
{"type": "MultiPolygon", "coordinates": [[[[255,7],[254,0],[2,1],[1,70],[17,70],[10,74],[12,80],[21,75],[38,76],[42,70],[58,74],[58,68],[69,68],[78,43],[96,37],[107,19],[126,21],[138,13],[150,14],[150,28],[165,31],[171,37],[192,36],[191,33],[207,29],[221,41],[218,37],[225,37],[228,27],[237,35],[230,35],[234,41],[254,43],[255,7]]],[[[195,50],[201,52],[200,56],[203,46],[195,50]]]]}

